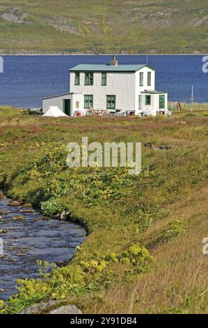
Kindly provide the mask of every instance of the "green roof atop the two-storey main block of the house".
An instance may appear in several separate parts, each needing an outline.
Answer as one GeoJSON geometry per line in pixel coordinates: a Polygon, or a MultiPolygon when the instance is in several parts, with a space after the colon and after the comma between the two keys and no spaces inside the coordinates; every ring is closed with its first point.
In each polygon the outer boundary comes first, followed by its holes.
{"type": "Polygon", "coordinates": [[[141,70],[141,68],[148,67],[154,70],[151,66],[148,65],[118,65],[111,66],[105,64],[79,64],[70,68],[71,71],[93,71],[93,72],[136,72],[141,70]]]}

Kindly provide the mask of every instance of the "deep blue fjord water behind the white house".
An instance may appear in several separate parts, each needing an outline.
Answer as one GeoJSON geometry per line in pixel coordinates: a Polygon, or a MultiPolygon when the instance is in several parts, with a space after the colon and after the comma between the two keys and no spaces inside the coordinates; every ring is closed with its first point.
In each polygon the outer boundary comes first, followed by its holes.
{"type": "MultiPolygon", "coordinates": [[[[69,91],[68,70],[77,64],[108,64],[111,55],[3,56],[0,105],[42,107],[41,98],[69,91]]],[[[120,64],[145,64],[145,55],[120,55],[120,64]]],[[[170,101],[189,102],[194,85],[195,101],[208,102],[208,73],[202,56],[151,55],[148,64],[157,70],[156,89],[168,91],[170,101]]]]}

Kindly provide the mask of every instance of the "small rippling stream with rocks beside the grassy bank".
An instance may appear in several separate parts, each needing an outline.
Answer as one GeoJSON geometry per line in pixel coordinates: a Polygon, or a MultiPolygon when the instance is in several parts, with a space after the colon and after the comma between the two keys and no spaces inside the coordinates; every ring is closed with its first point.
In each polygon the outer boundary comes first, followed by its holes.
{"type": "Polygon", "coordinates": [[[11,207],[9,202],[0,199],[0,299],[17,292],[17,278],[39,277],[37,260],[68,261],[86,239],[86,231],[79,225],[46,220],[40,211],[11,207]]]}

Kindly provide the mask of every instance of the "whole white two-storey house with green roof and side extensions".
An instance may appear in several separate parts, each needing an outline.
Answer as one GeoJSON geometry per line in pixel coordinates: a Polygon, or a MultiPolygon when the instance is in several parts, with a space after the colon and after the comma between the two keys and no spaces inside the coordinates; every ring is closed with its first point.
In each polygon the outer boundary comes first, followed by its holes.
{"type": "Polygon", "coordinates": [[[148,65],[79,64],[70,69],[70,92],[42,99],[42,112],[58,106],[65,114],[90,108],[139,116],[168,114],[168,94],[155,90],[155,70],[148,65]]]}

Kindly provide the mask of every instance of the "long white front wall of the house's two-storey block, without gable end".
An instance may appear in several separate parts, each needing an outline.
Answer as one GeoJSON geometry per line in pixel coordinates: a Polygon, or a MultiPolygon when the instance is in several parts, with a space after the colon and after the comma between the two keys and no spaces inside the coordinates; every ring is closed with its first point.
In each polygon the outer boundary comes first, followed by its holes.
{"type": "Polygon", "coordinates": [[[135,110],[135,73],[107,73],[106,86],[102,86],[102,73],[93,75],[93,85],[85,85],[85,73],[80,73],[80,85],[74,85],[75,73],[70,73],[70,91],[93,95],[93,107],[106,109],[106,96],[115,96],[115,108],[135,110]]]}

